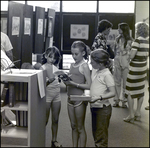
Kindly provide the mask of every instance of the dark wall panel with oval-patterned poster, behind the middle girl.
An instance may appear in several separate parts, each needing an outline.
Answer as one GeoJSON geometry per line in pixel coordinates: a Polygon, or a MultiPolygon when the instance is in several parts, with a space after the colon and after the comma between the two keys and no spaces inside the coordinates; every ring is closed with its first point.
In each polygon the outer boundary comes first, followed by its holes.
{"type": "MultiPolygon", "coordinates": [[[[95,33],[95,15],[63,15],[63,51],[69,51],[75,40],[92,45],[95,33]]],[[[63,52],[64,53],[64,52],[63,52]]]]}

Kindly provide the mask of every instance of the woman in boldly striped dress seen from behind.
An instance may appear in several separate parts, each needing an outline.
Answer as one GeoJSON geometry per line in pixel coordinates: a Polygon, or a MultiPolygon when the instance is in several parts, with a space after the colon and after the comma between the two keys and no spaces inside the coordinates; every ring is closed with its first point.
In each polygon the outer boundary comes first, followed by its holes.
{"type": "Polygon", "coordinates": [[[144,98],[147,76],[147,58],[149,56],[149,25],[144,22],[135,24],[136,39],[130,51],[129,73],[126,80],[125,97],[128,100],[129,115],[125,122],[134,122],[141,118],[141,106],[144,98]],[[137,99],[137,108],[134,113],[134,99],[137,99]]]}

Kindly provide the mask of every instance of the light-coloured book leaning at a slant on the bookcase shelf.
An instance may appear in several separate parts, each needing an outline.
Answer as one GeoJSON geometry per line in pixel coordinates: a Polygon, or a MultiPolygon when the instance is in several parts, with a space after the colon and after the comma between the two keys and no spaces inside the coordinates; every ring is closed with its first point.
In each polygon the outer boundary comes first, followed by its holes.
{"type": "Polygon", "coordinates": [[[16,125],[16,115],[11,110],[5,109],[5,118],[13,125],[16,125]]]}

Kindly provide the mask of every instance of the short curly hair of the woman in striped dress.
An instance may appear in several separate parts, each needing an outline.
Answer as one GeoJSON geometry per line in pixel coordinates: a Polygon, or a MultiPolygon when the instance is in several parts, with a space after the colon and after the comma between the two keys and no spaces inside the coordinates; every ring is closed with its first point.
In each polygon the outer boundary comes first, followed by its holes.
{"type": "Polygon", "coordinates": [[[145,22],[137,22],[135,24],[135,29],[137,37],[141,36],[147,38],[149,36],[149,25],[145,22]]]}

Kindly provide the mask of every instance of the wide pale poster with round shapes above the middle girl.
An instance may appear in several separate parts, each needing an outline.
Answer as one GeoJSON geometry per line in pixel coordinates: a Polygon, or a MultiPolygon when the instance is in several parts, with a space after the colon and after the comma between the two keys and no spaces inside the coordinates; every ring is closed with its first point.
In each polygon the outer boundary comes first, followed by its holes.
{"type": "Polygon", "coordinates": [[[71,24],[70,26],[70,38],[71,39],[85,39],[88,40],[89,36],[89,25],[76,25],[71,24]]]}

